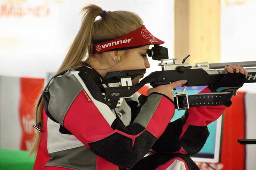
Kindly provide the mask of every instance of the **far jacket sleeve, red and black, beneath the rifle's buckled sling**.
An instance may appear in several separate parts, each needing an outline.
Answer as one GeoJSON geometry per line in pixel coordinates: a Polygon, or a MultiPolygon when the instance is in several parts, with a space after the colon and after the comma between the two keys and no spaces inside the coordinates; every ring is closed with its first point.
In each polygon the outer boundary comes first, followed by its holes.
{"type": "MultiPolygon", "coordinates": [[[[200,93],[210,92],[207,87],[200,93]]],[[[218,119],[227,107],[224,105],[190,107],[180,119],[168,124],[152,149],[155,152],[196,154],[209,136],[207,125],[218,119]]]]}

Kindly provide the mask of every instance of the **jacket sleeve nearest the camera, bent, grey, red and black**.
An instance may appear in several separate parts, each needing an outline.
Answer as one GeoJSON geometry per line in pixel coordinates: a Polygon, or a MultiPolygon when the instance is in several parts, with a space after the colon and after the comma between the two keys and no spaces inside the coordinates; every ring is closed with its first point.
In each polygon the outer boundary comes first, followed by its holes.
{"type": "Polygon", "coordinates": [[[143,158],[174,114],[172,101],[155,93],[134,122],[125,126],[82,72],[54,78],[48,93],[48,114],[92,152],[121,168],[132,168],[143,158]]]}

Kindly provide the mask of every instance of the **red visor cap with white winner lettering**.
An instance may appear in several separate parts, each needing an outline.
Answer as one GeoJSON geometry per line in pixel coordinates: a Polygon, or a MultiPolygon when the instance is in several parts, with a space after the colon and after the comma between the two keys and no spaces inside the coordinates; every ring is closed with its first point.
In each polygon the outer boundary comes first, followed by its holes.
{"type": "Polygon", "coordinates": [[[164,41],[154,37],[145,25],[135,31],[103,43],[93,45],[93,53],[113,51],[114,49],[131,49],[129,47],[141,47],[142,45],[163,44],[164,41]]]}

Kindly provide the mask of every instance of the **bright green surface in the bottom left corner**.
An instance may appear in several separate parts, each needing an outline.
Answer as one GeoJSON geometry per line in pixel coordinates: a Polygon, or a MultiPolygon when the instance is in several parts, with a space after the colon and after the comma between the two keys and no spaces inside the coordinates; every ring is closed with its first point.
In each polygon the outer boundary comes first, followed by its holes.
{"type": "Polygon", "coordinates": [[[34,156],[24,150],[0,149],[0,170],[32,170],[34,156]]]}

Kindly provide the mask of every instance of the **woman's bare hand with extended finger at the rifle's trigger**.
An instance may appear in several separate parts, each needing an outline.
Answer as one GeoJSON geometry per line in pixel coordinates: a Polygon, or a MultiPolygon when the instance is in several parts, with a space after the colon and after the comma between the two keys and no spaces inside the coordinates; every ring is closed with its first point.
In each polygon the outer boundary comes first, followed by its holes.
{"type": "Polygon", "coordinates": [[[168,96],[173,101],[174,100],[174,92],[172,91],[172,89],[174,89],[178,86],[181,86],[182,84],[186,84],[186,82],[187,82],[187,80],[179,80],[176,82],[172,82],[170,84],[157,86],[156,88],[150,88],[150,89],[148,89],[147,94],[150,95],[153,92],[161,93],[161,94],[168,96]]]}

